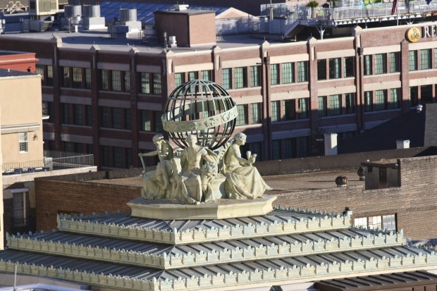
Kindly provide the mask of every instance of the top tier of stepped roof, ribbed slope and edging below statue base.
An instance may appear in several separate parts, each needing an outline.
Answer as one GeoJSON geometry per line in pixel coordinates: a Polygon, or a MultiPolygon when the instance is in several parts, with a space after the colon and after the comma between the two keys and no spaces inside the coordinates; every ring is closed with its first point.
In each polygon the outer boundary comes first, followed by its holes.
{"type": "MultiPolygon", "coordinates": [[[[279,211],[279,210],[277,210],[279,211]]],[[[101,216],[100,216],[101,217],[101,216]]],[[[95,234],[144,242],[160,242],[164,244],[188,244],[199,242],[219,242],[250,237],[266,237],[273,235],[289,235],[347,229],[350,227],[350,216],[332,213],[314,213],[293,210],[281,210],[281,217],[275,211],[266,216],[252,219],[225,219],[211,221],[190,221],[192,227],[185,228],[168,225],[166,221],[147,218],[125,217],[120,219],[99,218],[59,218],[59,230],[72,233],[95,234]],[[262,219],[264,217],[264,219],[262,219]],[[259,218],[259,219],[258,219],[259,218]],[[113,221],[116,221],[115,223],[113,221]],[[256,221],[259,221],[258,223],[256,221]],[[145,225],[145,226],[142,226],[145,225]],[[220,225],[220,226],[219,226],[220,225]]],[[[182,225],[182,226],[180,226],[182,225]]]]}

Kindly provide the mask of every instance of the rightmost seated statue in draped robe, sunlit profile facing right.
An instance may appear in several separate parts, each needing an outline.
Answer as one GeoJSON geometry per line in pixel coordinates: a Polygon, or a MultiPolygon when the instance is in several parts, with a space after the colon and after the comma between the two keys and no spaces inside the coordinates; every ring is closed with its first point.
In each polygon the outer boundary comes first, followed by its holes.
{"type": "Polygon", "coordinates": [[[259,175],[257,168],[252,166],[256,154],[242,158],[240,146],[246,143],[246,135],[238,133],[235,142],[230,144],[223,157],[226,175],[226,195],[229,199],[256,199],[266,190],[272,190],[259,175]]]}

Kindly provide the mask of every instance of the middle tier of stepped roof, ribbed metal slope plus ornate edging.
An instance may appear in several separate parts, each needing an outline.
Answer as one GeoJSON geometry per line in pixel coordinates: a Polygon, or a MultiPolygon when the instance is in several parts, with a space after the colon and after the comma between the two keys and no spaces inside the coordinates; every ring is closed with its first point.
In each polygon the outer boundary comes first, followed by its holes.
{"type": "Polygon", "coordinates": [[[232,241],[181,245],[169,248],[164,244],[128,242],[84,235],[69,235],[62,240],[59,233],[15,236],[8,235],[8,248],[23,251],[57,254],[73,258],[86,257],[97,261],[113,261],[133,266],[172,269],[257,259],[281,259],[331,252],[358,251],[380,247],[399,247],[401,233],[376,233],[369,230],[345,230],[321,232],[312,235],[278,235],[274,240],[247,239],[233,244],[232,241]],[[316,237],[319,237],[316,239],[316,237]],[[321,237],[326,237],[322,239],[321,237]],[[74,241],[74,242],[72,242],[74,241]],[[240,245],[240,247],[238,247],[240,245]],[[241,247],[242,246],[242,247],[241,247]]]}

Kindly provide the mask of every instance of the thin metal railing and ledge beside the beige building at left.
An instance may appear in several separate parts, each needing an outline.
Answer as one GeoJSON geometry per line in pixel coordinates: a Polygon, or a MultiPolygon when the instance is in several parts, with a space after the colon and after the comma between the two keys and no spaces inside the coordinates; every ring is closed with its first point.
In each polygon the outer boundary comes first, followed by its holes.
{"type": "Polygon", "coordinates": [[[66,151],[44,151],[44,159],[18,163],[4,163],[4,175],[17,175],[65,168],[83,168],[94,166],[94,155],[78,154],[66,151]]]}

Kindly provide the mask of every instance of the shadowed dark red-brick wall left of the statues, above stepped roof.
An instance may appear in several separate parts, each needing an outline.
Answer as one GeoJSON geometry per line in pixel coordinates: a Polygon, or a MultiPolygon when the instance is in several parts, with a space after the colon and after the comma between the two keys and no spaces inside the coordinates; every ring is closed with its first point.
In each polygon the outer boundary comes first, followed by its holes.
{"type": "Polygon", "coordinates": [[[35,180],[35,193],[38,231],[56,228],[58,211],[130,211],[126,203],[141,196],[140,187],[63,180],[35,180]]]}

